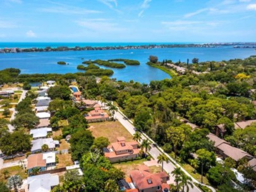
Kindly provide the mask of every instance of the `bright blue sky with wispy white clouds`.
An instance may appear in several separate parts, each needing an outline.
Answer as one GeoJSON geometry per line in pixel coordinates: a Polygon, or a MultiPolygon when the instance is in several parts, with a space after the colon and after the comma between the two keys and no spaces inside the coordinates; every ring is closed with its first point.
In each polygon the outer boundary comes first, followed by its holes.
{"type": "Polygon", "coordinates": [[[0,42],[256,42],[256,0],[1,0],[0,42]]]}

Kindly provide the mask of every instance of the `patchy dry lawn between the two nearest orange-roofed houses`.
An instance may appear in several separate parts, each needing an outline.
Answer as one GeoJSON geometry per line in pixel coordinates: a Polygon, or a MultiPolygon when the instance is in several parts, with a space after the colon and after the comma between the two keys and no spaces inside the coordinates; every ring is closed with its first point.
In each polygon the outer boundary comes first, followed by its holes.
{"type": "MultiPolygon", "coordinates": [[[[121,171],[125,172],[125,175],[128,177],[130,176],[130,172],[138,169],[138,167],[140,165],[145,165],[143,164],[143,162],[147,161],[146,159],[140,159],[140,160],[133,160],[133,161],[128,161],[128,162],[120,162],[120,163],[116,163],[113,164],[114,167],[121,169],[121,171]]],[[[161,166],[157,167],[157,166],[150,166],[149,170],[151,173],[155,173],[155,172],[161,172],[162,168],[161,166]]]]}

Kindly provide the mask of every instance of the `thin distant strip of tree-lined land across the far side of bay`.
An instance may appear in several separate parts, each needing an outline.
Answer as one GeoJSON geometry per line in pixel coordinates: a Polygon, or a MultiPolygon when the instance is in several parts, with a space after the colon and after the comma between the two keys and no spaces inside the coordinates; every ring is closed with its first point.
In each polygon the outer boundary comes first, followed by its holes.
{"type": "MultiPolygon", "coordinates": [[[[18,44],[18,43],[17,43],[18,44]]],[[[16,52],[52,52],[52,51],[97,51],[97,50],[118,50],[118,49],[159,49],[159,48],[184,48],[184,47],[204,47],[204,48],[214,48],[214,47],[224,47],[229,46],[236,49],[256,49],[256,43],[209,43],[209,44],[148,44],[148,45],[112,45],[112,46],[59,46],[59,47],[30,47],[30,48],[3,48],[0,49],[0,53],[16,53],[16,52]]]]}

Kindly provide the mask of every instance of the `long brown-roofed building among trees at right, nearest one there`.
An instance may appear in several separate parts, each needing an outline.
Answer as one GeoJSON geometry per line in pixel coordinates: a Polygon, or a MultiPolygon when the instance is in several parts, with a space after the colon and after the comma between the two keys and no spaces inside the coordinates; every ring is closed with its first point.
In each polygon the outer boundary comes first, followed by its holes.
{"type": "Polygon", "coordinates": [[[226,157],[230,157],[231,159],[238,162],[238,160],[242,158],[246,158],[248,160],[251,160],[253,158],[247,152],[241,150],[240,148],[231,146],[230,143],[228,143],[228,141],[222,140],[221,138],[217,137],[212,133],[207,135],[207,137],[209,138],[210,141],[214,142],[216,153],[221,155],[223,159],[226,159],[226,157]]]}

